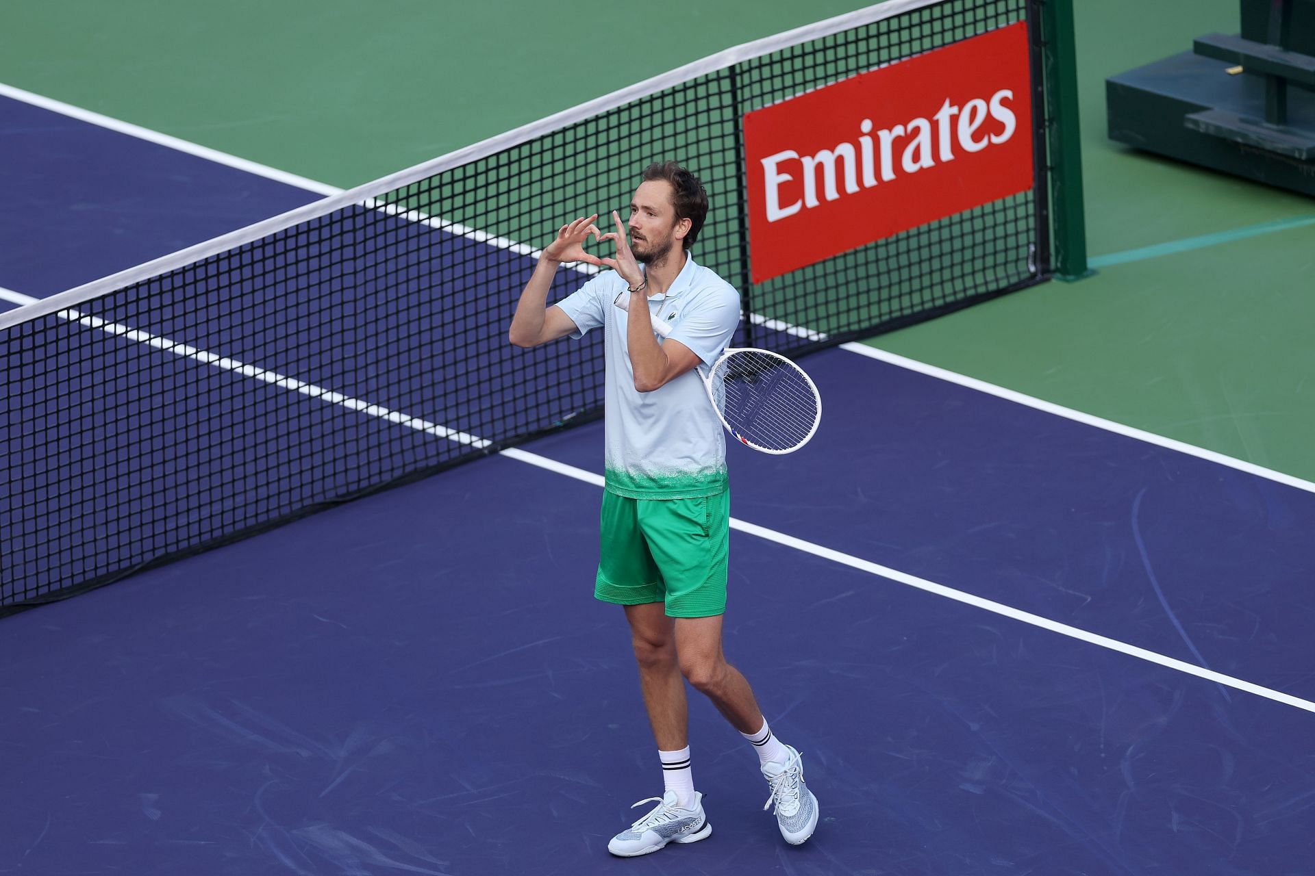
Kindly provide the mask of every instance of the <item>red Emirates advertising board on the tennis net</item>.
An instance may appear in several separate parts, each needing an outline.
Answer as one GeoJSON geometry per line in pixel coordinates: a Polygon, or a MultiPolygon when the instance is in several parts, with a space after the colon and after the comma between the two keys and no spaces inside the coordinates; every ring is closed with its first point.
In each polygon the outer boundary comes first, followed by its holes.
{"type": "Polygon", "coordinates": [[[744,116],[753,282],[1032,188],[1027,26],[744,116]]]}

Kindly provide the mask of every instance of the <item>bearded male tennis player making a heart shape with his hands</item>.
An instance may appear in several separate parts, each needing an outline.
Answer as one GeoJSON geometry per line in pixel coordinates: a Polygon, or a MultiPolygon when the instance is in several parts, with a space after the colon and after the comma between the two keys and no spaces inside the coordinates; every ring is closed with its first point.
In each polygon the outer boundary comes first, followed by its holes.
{"type": "Polygon", "coordinates": [[[615,232],[600,234],[597,214],[562,226],[521,293],[509,332],[518,347],[581,338],[600,326],[605,332],[606,489],[594,595],[625,607],[665,784],[661,797],[635,804],[658,805],[608,851],[647,855],[711,834],[690,772],[681,676],[755,746],[781,835],[798,844],[818,821],[800,753],[772,735],[748,682],[722,654],[726,440],[694,369],[717,361],[735,334],[739,293],[689,255],[707,194],[675,162],[644,168],[630,202],[629,244],[621,217],[611,215],[615,232]],[[615,257],[586,252],[589,238],[615,242],[615,257]],[[547,307],[563,261],[611,271],[547,307]],[[654,335],[654,315],[672,324],[664,340],[654,335]]]}

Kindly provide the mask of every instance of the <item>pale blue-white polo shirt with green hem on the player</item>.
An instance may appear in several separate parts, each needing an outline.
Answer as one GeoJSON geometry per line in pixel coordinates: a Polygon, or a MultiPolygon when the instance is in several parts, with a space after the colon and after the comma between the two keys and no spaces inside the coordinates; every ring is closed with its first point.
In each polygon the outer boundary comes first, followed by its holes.
{"type": "MultiPolygon", "coordinates": [[[[583,338],[604,327],[606,348],[606,487],[634,499],[692,499],[726,490],[726,436],[697,369],[651,391],[635,390],[626,348],[627,314],[613,302],[627,284],[614,271],[589,280],[558,307],[583,338]]],[[[648,298],[650,313],[671,323],[679,340],[711,365],[739,324],[739,293],[686,253],[665,294],[648,298]]],[[[660,339],[659,339],[660,340],[660,339]]]]}

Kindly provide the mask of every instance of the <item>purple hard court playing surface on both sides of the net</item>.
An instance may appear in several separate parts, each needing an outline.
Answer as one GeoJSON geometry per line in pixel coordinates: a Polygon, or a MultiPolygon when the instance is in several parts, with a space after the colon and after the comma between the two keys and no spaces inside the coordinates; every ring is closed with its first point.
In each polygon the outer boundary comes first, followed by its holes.
{"type": "MultiPolygon", "coordinates": [[[[11,305],[318,197],[18,100],[0,137],[11,305]]],[[[1307,872],[1312,486],[871,349],[805,364],[814,441],[730,450],[726,636],[807,758],[806,846],[692,697],[713,838],[608,856],[655,770],[592,599],[593,423],[0,620],[0,872],[1307,872]]],[[[366,370],[301,380],[419,415],[366,370]]]]}

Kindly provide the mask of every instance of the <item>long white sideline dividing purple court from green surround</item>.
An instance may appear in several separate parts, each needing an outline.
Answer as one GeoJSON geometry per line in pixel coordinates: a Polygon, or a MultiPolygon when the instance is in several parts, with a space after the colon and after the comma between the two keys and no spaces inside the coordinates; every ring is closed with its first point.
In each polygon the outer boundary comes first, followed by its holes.
{"type": "MultiPolygon", "coordinates": [[[[275,181],[279,181],[279,183],[285,183],[287,185],[293,185],[293,186],[299,186],[299,188],[308,189],[308,190],[312,190],[312,192],[317,192],[320,194],[339,194],[339,193],[343,192],[343,189],[334,188],[334,186],[327,185],[325,183],[317,183],[317,181],[309,180],[309,179],[306,179],[304,176],[296,176],[293,173],[288,173],[285,171],[279,171],[279,169],[275,169],[272,167],[267,167],[264,164],[258,164],[255,162],[249,162],[246,159],[237,158],[237,156],[233,156],[233,155],[227,155],[225,152],[220,152],[217,150],[212,150],[212,148],[208,148],[205,146],[199,146],[196,143],[189,143],[189,142],[179,139],[176,137],[170,137],[167,134],[160,134],[158,131],[153,131],[150,129],[141,127],[138,125],[132,125],[129,122],[122,122],[122,121],[110,118],[108,116],[101,116],[100,113],[92,113],[89,110],[80,109],[80,108],[72,106],[70,104],[63,104],[60,101],[51,100],[49,97],[42,97],[41,95],[34,95],[32,92],[22,91],[21,88],[13,88],[12,85],[4,85],[3,83],[0,83],[0,96],[5,96],[5,97],[11,97],[13,100],[24,101],[24,102],[32,104],[34,106],[41,106],[42,109],[49,109],[51,112],[60,113],[60,114],[68,116],[71,118],[78,118],[80,121],[85,121],[85,122],[89,122],[92,125],[100,125],[103,127],[108,127],[110,130],[116,130],[116,131],[120,131],[122,134],[129,134],[132,137],[137,137],[139,139],[145,139],[145,141],[149,141],[151,143],[159,143],[162,146],[168,146],[170,148],[175,148],[175,150],[178,150],[180,152],[185,152],[188,155],[196,155],[199,158],[204,158],[204,159],[214,162],[217,164],[224,164],[226,167],[238,168],[238,169],[246,171],[249,173],[254,173],[256,176],[264,176],[267,179],[271,179],[271,180],[275,180],[275,181]]],[[[376,209],[384,209],[384,210],[391,211],[391,213],[393,213],[396,215],[402,215],[402,217],[405,217],[405,218],[408,218],[410,221],[423,221],[430,227],[435,227],[435,229],[451,231],[452,234],[464,235],[464,236],[468,236],[472,240],[479,240],[481,243],[488,243],[489,246],[494,246],[494,247],[500,247],[500,248],[504,248],[504,250],[509,250],[512,252],[517,252],[517,253],[526,255],[526,256],[530,256],[530,257],[537,257],[538,253],[539,253],[538,250],[535,250],[534,247],[530,247],[527,244],[517,243],[514,240],[508,240],[505,238],[493,236],[493,235],[489,235],[487,232],[479,231],[476,229],[469,229],[467,226],[455,225],[455,223],[444,223],[443,219],[439,219],[439,218],[435,218],[435,217],[425,217],[418,210],[406,211],[406,210],[402,210],[402,209],[400,209],[400,208],[397,208],[394,205],[391,205],[391,204],[381,205],[380,202],[373,201],[373,200],[371,200],[370,202],[367,202],[367,206],[375,206],[376,209]]],[[[235,231],[234,235],[241,234],[241,231],[242,230],[235,231]]],[[[167,257],[170,257],[170,256],[166,256],[166,259],[167,257]]],[[[590,265],[576,265],[576,271],[580,271],[581,273],[592,273],[593,268],[590,265]]],[[[11,293],[11,294],[17,294],[17,293],[11,293]]],[[[22,298],[26,298],[26,297],[22,297],[22,298]]],[[[7,298],[7,301],[14,301],[16,303],[36,303],[38,299],[28,298],[25,302],[17,302],[14,298],[7,298]]],[[[45,299],[41,299],[41,301],[45,301],[45,299]]],[[[826,335],[822,334],[822,332],[819,332],[819,331],[813,331],[810,328],[801,328],[801,327],[792,326],[789,323],[785,323],[785,322],[781,322],[781,320],[777,320],[777,319],[771,319],[768,317],[763,317],[763,315],[759,315],[759,314],[751,314],[750,318],[751,318],[751,320],[753,323],[756,323],[759,326],[764,326],[764,327],[771,328],[773,331],[781,331],[781,332],[793,335],[796,338],[802,338],[802,339],[813,340],[813,341],[825,340],[826,339],[826,335]]],[[[1103,429],[1106,432],[1112,432],[1115,435],[1122,435],[1124,437],[1131,437],[1131,439],[1135,439],[1137,441],[1144,441],[1147,444],[1153,444],[1156,447],[1162,447],[1162,448],[1166,448],[1166,449],[1170,449],[1170,450],[1176,450],[1178,453],[1185,453],[1187,456],[1194,456],[1194,457],[1201,458],[1201,460],[1207,460],[1210,462],[1215,462],[1216,465],[1223,465],[1226,468],[1236,469],[1239,471],[1245,471],[1247,474],[1252,474],[1252,475],[1256,475],[1256,477],[1260,477],[1260,478],[1265,478],[1265,479],[1269,479],[1269,481],[1276,481],[1278,483],[1283,483],[1286,486],[1295,487],[1298,490],[1304,490],[1307,493],[1315,493],[1315,482],[1304,481],[1302,478],[1298,478],[1298,477],[1294,477],[1294,475],[1290,475],[1290,474],[1285,474],[1282,471],[1276,471],[1274,469],[1266,469],[1266,468],[1264,468],[1261,465],[1256,465],[1253,462],[1247,462],[1245,460],[1239,460],[1236,457],[1226,456],[1226,454],[1218,453],[1215,450],[1207,450],[1206,448],[1197,447],[1194,444],[1187,444],[1185,441],[1178,441],[1176,439],[1165,437],[1162,435],[1156,435],[1153,432],[1147,432],[1144,429],[1134,428],[1131,426],[1124,426],[1124,424],[1118,423],[1115,420],[1107,420],[1105,418],[1095,416],[1093,414],[1084,414],[1082,411],[1077,411],[1077,410],[1073,410],[1070,407],[1064,407],[1061,405],[1055,405],[1052,402],[1047,402],[1047,401],[1035,398],[1032,395],[1027,395],[1024,393],[1019,393],[1019,391],[1015,391],[1015,390],[1011,390],[1011,389],[1005,389],[1003,386],[997,386],[994,383],[988,383],[986,381],[981,381],[981,380],[977,380],[977,378],[973,378],[973,377],[967,377],[964,374],[957,374],[955,372],[951,372],[951,370],[947,370],[947,369],[943,369],[943,368],[938,368],[936,365],[928,365],[926,362],[920,362],[920,361],[914,360],[914,359],[907,359],[905,356],[898,356],[896,353],[889,353],[889,352],[877,349],[874,347],[869,347],[867,344],[848,343],[848,344],[842,344],[840,348],[846,349],[846,351],[848,351],[851,353],[857,353],[860,356],[867,356],[869,359],[877,359],[877,360],[884,361],[884,362],[886,362],[889,365],[896,365],[898,368],[905,368],[907,370],[917,372],[919,374],[926,374],[928,377],[935,377],[938,380],[943,380],[943,381],[947,381],[947,382],[951,382],[951,383],[957,383],[959,386],[965,386],[968,389],[973,389],[973,390],[977,390],[980,393],[986,393],[989,395],[994,395],[997,398],[1002,398],[1002,399],[1006,399],[1006,401],[1010,401],[1010,402],[1015,402],[1015,403],[1023,405],[1026,407],[1031,407],[1031,408],[1035,408],[1035,410],[1039,410],[1039,411],[1045,411],[1047,414],[1052,414],[1053,416],[1061,416],[1064,419],[1069,419],[1069,420],[1074,420],[1074,422],[1078,422],[1078,423],[1084,423],[1086,426],[1091,426],[1094,428],[1103,429]]]]}

